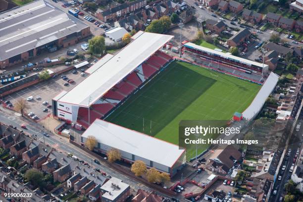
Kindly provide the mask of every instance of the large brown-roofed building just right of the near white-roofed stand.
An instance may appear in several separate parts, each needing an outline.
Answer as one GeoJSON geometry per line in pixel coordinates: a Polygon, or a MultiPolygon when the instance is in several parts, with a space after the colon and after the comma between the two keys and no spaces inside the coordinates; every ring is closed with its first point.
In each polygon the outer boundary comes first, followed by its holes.
{"type": "MultiPolygon", "coordinates": [[[[214,164],[213,167],[218,166],[219,168],[219,166],[222,166],[222,170],[228,173],[229,170],[234,166],[235,162],[239,161],[241,158],[242,153],[239,152],[235,147],[228,145],[223,150],[216,150],[214,153],[212,153],[209,158],[209,162],[217,162],[218,164],[214,164]]],[[[210,167],[208,166],[208,168],[210,167]]]]}

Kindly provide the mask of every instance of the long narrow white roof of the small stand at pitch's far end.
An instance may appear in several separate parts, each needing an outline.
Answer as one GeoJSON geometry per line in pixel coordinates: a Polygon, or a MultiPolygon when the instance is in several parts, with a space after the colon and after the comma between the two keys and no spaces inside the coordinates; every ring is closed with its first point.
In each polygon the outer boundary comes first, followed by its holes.
{"type": "MultiPolygon", "coordinates": [[[[186,43],[185,46],[193,47],[193,48],[195,48],[197,50],[204,50],[204,51],[207,51],[207,52],[210,52],[210,53],[213,53],[213,54],[218,54],[218,55],[220,55],[222,57],[238,60],[238,61],[243,62],[245,64],[255,65],[257,67],[263,67],[262,63],[255,62],[255,61],[252,61],[252,60],[249,60],[249,59],[245,59],[245,58],[242,58],[242,57],[237,57],[235,55],[228,54],[228,53],[225,53],[225,52],[220,52],[220,51],[217,51],[217,50],[208,49],[208,48],[205,48],[205,47],[202,47],[202,46],[198,46],[198,45],[190,43],[190,42],[186,43]]],[[[267,64],[264,64],[264,69],[268,69],[268,65],[267,64]]]]}

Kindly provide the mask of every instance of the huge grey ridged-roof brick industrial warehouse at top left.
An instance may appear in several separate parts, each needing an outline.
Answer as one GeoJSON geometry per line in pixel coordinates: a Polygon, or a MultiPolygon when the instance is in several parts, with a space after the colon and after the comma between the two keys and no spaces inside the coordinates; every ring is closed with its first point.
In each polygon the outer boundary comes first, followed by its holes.
{"type": "Polygon", "coordinates": [[[58,8],[34,1],[0,14],[0,68],[74,45],[90,27],[58,8]]]}

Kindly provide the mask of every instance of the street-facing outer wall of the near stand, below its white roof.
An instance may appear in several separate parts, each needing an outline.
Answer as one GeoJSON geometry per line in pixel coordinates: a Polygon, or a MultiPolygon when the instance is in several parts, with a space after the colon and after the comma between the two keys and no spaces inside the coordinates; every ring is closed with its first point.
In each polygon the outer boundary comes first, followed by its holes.
{"type": "MultiPolygon", "coordinates": [[[[87,138],[81,137],[81,144],[84,145],[84,143],[86,142],[86,140],[87,140],[87,138]]],[[[104,144],[98,142],[97,148],[95,148],[95,151],[96,152],[101,152],[103,154],[106,154],[111,149],[117,149],[117,150],[119,150],[118,148],[112,148],[109,145],[104,145],[104,144]]],[[[121,158],[124,161],[128,162],[128,163],[133,163],[136,160],[142,160],[143,162],[145,162],[145,164],[146,164],[146,166],[148,168],[153,167],[153,168],[157,169],[158,171],[160,171],[160,172],[166,172],[166,173],[170,174],[171,176],[175,175],[177,173],[177,170],[180,167],[183,166],[183,160],[182,159],[184,159],[185,155],[186,155],[186,151],[184,151],[182,153],[182,155],[176,160],[176,162],[174,163],[174,165],[172,167],[168,167],[168,166],[162,165],[160,163],[151,161],[149,159],[140,157],[138,155],[134,155],[132,153],[124,152],[124,151],[121,151],[121,150],[119,150],[119,152],[121,154],[121,158]]]]}

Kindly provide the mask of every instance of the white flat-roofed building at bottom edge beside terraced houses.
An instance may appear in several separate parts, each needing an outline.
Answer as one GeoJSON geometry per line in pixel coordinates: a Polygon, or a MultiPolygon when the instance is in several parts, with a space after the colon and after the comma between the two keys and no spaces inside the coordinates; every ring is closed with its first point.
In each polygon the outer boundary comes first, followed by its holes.
{"type": "Polygon", "coordinates": [[[101,201],[124,202],[130,195],[130,186],[120,179],[112,177],[101,186],[101,201]]]}

